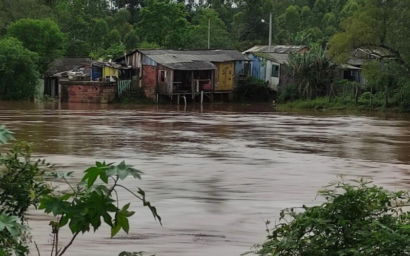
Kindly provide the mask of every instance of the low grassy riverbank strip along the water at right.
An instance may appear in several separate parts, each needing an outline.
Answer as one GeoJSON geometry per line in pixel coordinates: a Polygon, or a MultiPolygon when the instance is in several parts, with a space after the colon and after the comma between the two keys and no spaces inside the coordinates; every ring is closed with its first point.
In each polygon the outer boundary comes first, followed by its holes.
{"type": "Polygon", "coordinates": [[[385,108],[380,102],[374,102],[372,105],[370,101],[358,100],[344,100],[336,98],[330,100],[329,97],[321,97],[313,100],[296,100],[292,102],[281,103],[277,105],[278,110],[331,110],[331,111],[371,111],[371,112],[395,112],[395,113],[409,113],[408,105],[400,104],[385,108]]]}

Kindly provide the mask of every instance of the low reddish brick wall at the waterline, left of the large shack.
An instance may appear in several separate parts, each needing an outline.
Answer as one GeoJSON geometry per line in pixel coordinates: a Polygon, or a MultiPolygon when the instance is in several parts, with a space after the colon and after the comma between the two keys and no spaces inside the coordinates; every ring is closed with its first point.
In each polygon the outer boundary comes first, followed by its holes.
{"type": "Polygon", "coordinates": [[[117,94],[115,83],[67,81],[63,85],[67,87],[68,102],[108,103],[112,102],[117,94]]]}

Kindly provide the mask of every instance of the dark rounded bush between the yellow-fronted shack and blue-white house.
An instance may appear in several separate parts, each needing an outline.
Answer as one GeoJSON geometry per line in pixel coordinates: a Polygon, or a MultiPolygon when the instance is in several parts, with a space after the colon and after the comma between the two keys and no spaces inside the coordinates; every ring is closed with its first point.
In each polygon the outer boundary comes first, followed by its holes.
{"type": "Polygon", "coordinates": [[[236,98],[239,101],[268,102],[274,97],[274,91],[262,79],[249,77],[236,87],[236,98]]]}

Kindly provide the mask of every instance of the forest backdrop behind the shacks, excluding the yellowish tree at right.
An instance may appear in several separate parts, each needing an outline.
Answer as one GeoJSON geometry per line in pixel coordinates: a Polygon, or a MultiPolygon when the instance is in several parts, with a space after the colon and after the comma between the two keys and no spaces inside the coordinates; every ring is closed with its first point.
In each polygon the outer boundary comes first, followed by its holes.
{"type": "Polygon", "coordinates": [[[244,50],[268,43],[269,26],[260,20],[272,12],[274,44],[325,44],[358,5],[353,0],[4,0],[0,35],[18,19],[51,17],[66,34],[67,56],[118,44],[131,50],[142,42],[200,49],[207,48],[210,19],[212,48],[244,50]]]}

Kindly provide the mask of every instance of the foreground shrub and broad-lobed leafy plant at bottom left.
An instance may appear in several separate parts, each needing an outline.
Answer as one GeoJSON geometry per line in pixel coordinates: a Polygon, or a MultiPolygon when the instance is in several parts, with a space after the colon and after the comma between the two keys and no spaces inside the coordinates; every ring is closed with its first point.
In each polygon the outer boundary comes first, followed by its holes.
{"type": "MultiPolygon", "coordinates": [[[[147,206],[155,219],[161,222],[157,210],[146,200],[144,190],[133,191],[121,185],[126,178],[141,179],[142,172],[124,161],[114,163],[96,162],[85,170],[83,179],[77,184],[69,182],[72,172],[56,172],[54,165],[31,156],[31,145],[27,142],[4,144],[14,140],[13,134],[0,125],[0,255],[27,255],[29,244],[29,207],[44,209],[55,217],[50,222],[53,242],[52,255],[66,253],[78,234],[94,231],[103,223],[111,227],[111,237],[121,229],[129,232],[129,218],[135,214],[129,210],[131,202],[120,206],[117,189],[125,189],[147,206]],[[46,172],[47,170],[47,172],[46,172]],[[70,188],[68,193],[49,185],[53,180],[62,180],[70,188]],[[67,244],[60,242],[60,229],[68,227],[72,238],[67,244]]],[[[35,243],[35,241],[33,241],[35,243]]],[[[35,244],[38,254],[40,249],[35,244]]],[[[140,255],[141,252],[121,252],[121,255],[140,255]]]]}

